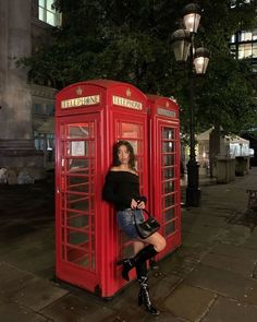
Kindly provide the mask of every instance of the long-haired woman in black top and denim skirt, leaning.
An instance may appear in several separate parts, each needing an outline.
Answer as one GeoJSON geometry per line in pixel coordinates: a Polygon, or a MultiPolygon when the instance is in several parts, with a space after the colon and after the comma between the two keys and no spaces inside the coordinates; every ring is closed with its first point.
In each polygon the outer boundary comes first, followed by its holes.
{"type": "Polygon", "coordinates": [[[160,312],[149,298],[146,262],[164,249],[166,239],[159,232],[155,232],[143,240],[136,231],[133,214],[137,223],[144,222],[142,210],[146,206],[146,196],[139,194],[135,155],[127,141],[119,141],[113,147],[113,165],[106,176],[102,198],[114,204],[120,228],[134,241],[135,257],[118,262],[123,265],[122,277],[130,281],[130,271],[136,269],[139,282],[138,305],[144,303],[147,311],[158,315],[160,312]]]}

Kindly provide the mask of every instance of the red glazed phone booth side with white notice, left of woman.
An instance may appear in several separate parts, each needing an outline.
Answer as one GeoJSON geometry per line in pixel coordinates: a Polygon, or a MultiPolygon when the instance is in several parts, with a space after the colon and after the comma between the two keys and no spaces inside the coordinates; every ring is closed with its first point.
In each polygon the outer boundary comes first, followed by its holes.
{"type": "Polygon", "coordinates": [[[58,120],[57,275],[94,290],[97,285],[97,115],[58,120]],[[82,121],[83,118],[83,121],[82,121]]]}

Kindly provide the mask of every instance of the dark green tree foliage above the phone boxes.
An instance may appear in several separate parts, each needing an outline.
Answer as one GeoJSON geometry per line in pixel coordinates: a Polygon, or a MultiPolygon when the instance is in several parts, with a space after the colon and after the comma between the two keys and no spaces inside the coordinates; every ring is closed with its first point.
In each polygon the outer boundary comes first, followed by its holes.
{"type": "MultiPolygon", "coordinates": [[[[197,2],[197,1],[196,1],[197,2]]],[[[188,72],[178,65],[171,34],[181,27],[184,0],[57,0],[63,26],[52,41],[38,48],[24,63],[29,76],[47,80],[57,88],[89,79],[112,79],[143,92],[175,96],[182,128],[188,124],[188,72]]],[[[206,75],[194,79],[197,129],[222,124],[238,132],[253,118],[257,123],[247,61],[230,52],[231,35],[257,26],[257,0],[198,1],[204,9],[196,46],[210,52],[206,75]],[[235,7],[230,5],[235,3],[235,7]]]]}

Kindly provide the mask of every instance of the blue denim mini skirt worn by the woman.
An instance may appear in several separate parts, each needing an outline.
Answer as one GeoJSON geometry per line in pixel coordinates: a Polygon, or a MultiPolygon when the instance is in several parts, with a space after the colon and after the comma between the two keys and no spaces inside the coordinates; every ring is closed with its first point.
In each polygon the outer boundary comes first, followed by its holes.
{"type": "Polygon", "coordinates": [[[126,234],[126,236],[131,239],[138,238],[138,234],[135,227],[135,219],[138,224],[144,222],[143,211],[126,208],[124,211],[119,211],[117,215],[118,225],[126,234]]]}

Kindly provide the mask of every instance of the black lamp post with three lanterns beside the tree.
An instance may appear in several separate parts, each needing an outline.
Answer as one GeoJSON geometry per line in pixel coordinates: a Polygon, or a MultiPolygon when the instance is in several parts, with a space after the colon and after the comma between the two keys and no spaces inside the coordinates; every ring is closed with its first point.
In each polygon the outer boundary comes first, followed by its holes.
{"type": "Polygon", "coordinates": [[[187,163],[186,205],[199,206],[199,165],[195,154],[195,106],[194,75],[205,74],[209,52],[200,47],[195,49],[194,37],[197,33],[201,10],[198,4],[189,3],[183,10],[184,28],[172,34],[172,49],[178,62],[188,62],[189,72],[189,160],[187,163]]]}

